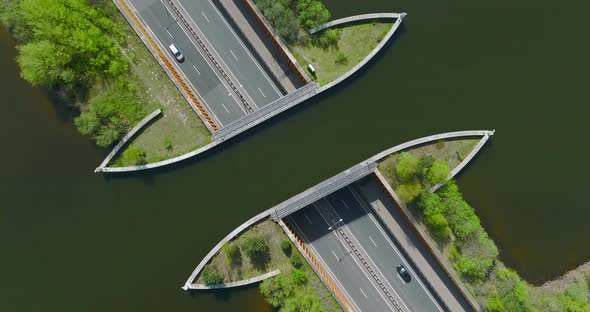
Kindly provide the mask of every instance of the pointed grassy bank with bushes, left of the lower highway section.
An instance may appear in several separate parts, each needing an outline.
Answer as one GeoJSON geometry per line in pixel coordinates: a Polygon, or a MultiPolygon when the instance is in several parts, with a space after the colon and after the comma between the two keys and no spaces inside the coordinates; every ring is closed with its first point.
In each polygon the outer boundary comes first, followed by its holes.
{"type": "Polygon", "coordinates": [[[342,311],[320,278],[278,224],[266,219],[226,243],[195,282],[219,285],[280,270],[260,283],[265,300],[280,311],[342,311]]]}

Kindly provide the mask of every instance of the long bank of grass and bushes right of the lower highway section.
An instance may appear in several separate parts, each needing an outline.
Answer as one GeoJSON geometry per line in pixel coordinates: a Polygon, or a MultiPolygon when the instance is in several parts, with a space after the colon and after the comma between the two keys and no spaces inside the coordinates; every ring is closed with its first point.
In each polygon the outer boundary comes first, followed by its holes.
{"type": "Polygon", "coordinates": [[[590,263],[557,281],[530,285],[500,261],[498,248],[453,180],[431,192],[477,141],[439,141],[396,153],[380,162],[379,171],[485,311],[590,311],[590,263]]]}

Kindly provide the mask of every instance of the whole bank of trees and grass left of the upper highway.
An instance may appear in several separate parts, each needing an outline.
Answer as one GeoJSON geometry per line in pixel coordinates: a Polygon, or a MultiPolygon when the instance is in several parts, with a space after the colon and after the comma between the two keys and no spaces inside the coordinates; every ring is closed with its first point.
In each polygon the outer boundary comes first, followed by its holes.
{"type": "Polygon", "coordinates": [[[0,22],[17,40],[21,76],[73,108],[80,133],[111,147],[157,108],[161,118],[115,165],[153,162],[207,144],[211,134],[111,0],[15,0],[0,22]],[[68,12],[64,18],[63,12],[68,12]]]}

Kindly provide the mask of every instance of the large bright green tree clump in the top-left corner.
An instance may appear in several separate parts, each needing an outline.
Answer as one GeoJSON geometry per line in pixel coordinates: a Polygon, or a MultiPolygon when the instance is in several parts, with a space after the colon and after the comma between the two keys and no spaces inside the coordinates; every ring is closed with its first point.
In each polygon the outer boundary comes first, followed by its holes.
{"type": "Polygon", "coordinates": [[[127,69],[112,38],[117,29],[87,1],[21,0],[18,10],[31,38],[19,47],[17,61],[33,85],[114,77],[127,69]]]}

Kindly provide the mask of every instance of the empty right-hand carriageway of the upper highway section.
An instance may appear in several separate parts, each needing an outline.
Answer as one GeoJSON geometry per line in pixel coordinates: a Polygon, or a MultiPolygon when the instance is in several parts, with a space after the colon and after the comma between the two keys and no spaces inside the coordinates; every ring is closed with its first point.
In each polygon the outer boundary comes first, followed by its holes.
{"type": "Polygon", "coordinates": [[[189,23],[204,34],[213,53],[229,69],[233,81],[242,86],[241,92],[247,94],[255,107],[262,107],[281,97],[279,89],[262,69],[248,47],[238,36],[230,23],[211,0],[175,0],[177,6],[188,14],[189,23]]]}

